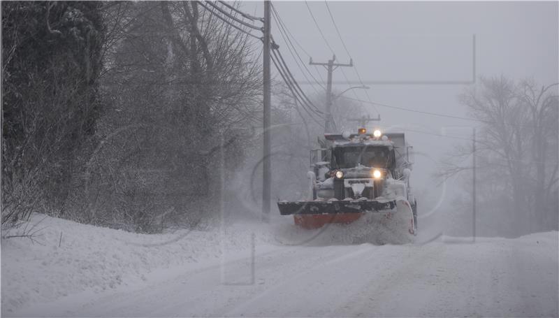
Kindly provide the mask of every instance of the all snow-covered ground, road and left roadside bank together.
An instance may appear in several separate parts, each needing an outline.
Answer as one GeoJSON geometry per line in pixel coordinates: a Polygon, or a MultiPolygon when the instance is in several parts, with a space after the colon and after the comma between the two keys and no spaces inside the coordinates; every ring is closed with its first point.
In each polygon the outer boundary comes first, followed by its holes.
{"type": "Polygon", "coordinates": [[[379,245],[387,233],[365,222],[161,235],[38,222],[35,243],[2,240],[4,317],[558,315],[557,232],[379,245]]]}

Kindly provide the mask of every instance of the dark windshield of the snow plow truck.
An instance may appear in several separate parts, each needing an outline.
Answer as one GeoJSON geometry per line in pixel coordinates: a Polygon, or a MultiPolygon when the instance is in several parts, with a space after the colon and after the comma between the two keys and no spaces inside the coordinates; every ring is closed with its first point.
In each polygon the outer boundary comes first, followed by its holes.
{"type": "Polygon", "coordinates": [[[333,161],[336,168],[354,168],[362,166],[375,168],[392,168],[391,150],[383,146],[345,146],[335,147],[333,161]]]}

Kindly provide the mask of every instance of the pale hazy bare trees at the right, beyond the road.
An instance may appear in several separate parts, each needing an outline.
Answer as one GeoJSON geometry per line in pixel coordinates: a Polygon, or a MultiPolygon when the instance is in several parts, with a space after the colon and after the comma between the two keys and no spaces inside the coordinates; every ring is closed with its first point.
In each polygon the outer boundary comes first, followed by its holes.
{"type": "MultiPolygon", "coordinates": [[[[486,196],[488,201],[482,207],[510,207],[501,217],[513,217],[517,233],[557,225],[558,98],[553,86],[537,89],[532,80],[517,84],[500,76],[481,78],[460,95],[472,118],[481,122],[477,168],[487,189],[480,191],[481,200],[486,196]]],[[[470,144],[456,147],[440,176],[470,171],[471,165],[457,164],[472,154],[470,144]]]]}

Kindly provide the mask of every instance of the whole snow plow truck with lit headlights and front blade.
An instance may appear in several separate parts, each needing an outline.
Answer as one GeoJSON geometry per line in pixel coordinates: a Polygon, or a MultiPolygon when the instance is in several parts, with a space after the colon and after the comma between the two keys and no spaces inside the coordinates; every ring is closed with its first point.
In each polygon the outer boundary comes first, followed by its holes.
{"type": "Polygon", "coordinates": [[[309,196],[303,201],[279,201],[282,215],[295,224],[317,229],[329,223],[354,222],[365,213],[409,220],[417,232],[417,202],[410,186],[413,148],[404,133],[325,133],[325,147],[312,150],[309,196]]]}

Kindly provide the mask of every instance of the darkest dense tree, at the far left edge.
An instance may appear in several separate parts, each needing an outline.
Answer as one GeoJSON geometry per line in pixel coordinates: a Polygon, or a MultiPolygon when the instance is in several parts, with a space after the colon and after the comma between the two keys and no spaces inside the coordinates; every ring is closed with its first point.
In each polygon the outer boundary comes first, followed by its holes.
{"type": "Polygon", "coordinates": [[[2,3],[2,224],[64,208],[101,113],[101,3],[2,3]]]}

